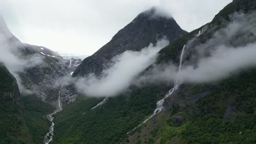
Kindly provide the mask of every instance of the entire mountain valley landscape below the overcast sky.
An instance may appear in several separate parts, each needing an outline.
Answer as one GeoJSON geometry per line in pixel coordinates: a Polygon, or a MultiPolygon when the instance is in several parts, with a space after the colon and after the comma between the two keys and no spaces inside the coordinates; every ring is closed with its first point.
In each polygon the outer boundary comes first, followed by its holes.
{"type": "Polygon", "coordinates": [[[84,59],[1,18],[0,143],[256,143],[255,10],[234,0],[186,32],[150,8],[84,59]]]}

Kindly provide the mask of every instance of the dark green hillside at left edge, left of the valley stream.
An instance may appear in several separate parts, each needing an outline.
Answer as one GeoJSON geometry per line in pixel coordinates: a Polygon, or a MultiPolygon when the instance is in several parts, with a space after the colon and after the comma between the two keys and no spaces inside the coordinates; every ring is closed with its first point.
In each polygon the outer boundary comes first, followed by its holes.
{"type": "Polygon", "coordinates": [[[21,96],[13,75],[0,65],[0,143],[42,143],[53,107],[34,95],[21,96]]]}

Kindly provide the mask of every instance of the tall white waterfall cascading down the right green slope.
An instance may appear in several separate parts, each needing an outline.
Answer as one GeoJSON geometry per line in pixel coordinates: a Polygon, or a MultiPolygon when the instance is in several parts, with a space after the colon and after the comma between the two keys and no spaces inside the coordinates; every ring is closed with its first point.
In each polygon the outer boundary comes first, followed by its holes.
{"type": "MultiPolygon", "coordinates": [[[[149,118],[147,118],[143,123],[146,123],[150,118],[152,118],[153,116],[155,116],[156,114],[161,112],[164,109],[165,99],[170,97],[173,94],[173,92],[179,88],[179,85],[182,84],[181,80],[179,79],[179,72],[182,70],[182,62],[183,62],[185,47],[186,47],[186,45],[183,46],[181,57],[179,58],[180,59],[179,60],[179,69],[178,69],[178,74],[177,74],[176,80],[174,81],[174,87],[166,93],[166,95],[163,99],[159,100],[158,103],[156,103],[156,109],[154,110],[153,115],[151,115],[149,118]]],[[[131,131],[137,129],[138,127],[141,127],[141,124],[139,124],[136,128],[132,129],[131,131]]],[[[129,134],[130,132],[128,132],[127,134],[129,134]]]]}

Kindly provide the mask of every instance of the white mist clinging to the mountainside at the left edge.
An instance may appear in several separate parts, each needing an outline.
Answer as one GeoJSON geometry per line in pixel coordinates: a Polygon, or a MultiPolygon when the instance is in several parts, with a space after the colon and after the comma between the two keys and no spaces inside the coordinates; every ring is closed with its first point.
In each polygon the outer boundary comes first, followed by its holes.
{"type": "Polygon", "coordinates": [[[31,93],[28,89],[22,86],[22,81],[19,74],[23,73],[25,69],[34,67],[42,61],[36,57],[22,56],[21,50],[24,48],[23,44],[14,37],[9,31],[4,19],[0,15],[0,62],[7,67],[11,74],[14,75],[18,82],[21,93],[31,93]]]}

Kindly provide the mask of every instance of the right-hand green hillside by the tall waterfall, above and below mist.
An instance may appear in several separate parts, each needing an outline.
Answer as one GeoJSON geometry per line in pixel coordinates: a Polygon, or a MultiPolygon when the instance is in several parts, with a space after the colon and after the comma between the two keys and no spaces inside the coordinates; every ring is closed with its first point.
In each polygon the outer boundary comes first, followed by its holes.
{"type": "MultiPolygon", "coordinates": [[[[255,1],[233,1],[220,11],[212,22],[162,49],[159,52],[158,64],[168,61],[178,62],[177,52],[180,52],[185,44],[189,44],[186,61],[196,62],[197,59],[191,57],[195,56],[196,47],[207,43],[207,40],[214,37],[215,32],[226,27],[230,15],[236,11],[251,14],[255,9],[255,1]],[[194,35],[206,27],[205,32],[193,39],[194,35]],[[188,43],[190,39],[193,41],[188,43]]],[[[255,35],[247,39],[246,33],[243,33],[239,37],[218,42],[238,47],[255,41],[255,35]]],[[[165,105],[168,108],[164,112],[133,131],[123,142],[255,143],[254,74],[255,69],[251,69],[207,85],[182,85],[179,91],[166,100],[165,105]]]]}

